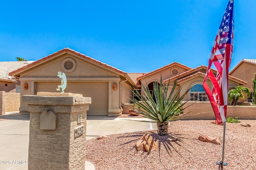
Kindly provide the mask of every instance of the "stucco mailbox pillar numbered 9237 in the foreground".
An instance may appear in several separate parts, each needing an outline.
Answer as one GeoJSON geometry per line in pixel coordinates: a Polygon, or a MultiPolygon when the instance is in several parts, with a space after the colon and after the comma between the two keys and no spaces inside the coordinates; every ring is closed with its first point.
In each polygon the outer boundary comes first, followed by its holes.
{"type": "Polygon", "coordinates": [[[38,95],[22,97],[30,111],[28,170],[84,170],[86,111],[91,98],[68,93],[38,95]]]}

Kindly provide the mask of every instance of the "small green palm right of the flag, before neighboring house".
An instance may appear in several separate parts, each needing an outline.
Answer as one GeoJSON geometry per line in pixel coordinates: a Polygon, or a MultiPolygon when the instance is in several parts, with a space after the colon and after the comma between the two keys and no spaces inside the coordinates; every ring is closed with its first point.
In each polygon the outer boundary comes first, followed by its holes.
{"type": "Polygon", "coordinates": [[[249,97],[251,96],[250,90],[247,87],[238,86],[231,89],[228,92],[228,98],[232,101],[231,106],[235,106],[239,98],[244,99],[244,93],[249,97]]]}

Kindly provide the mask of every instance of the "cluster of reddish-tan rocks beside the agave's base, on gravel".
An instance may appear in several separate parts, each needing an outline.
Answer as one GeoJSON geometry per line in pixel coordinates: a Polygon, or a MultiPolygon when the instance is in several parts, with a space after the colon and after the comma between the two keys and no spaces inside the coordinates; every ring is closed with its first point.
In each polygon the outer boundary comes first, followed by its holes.
{"type": "Polygon", "coordinates": [[[158,148],[158,144],[154,141],[152,136],[150,136],[149,134],[145,134],[136,143],[135,147],[138,151],[143,150],[146,152],[151,152],[158,148]]]}

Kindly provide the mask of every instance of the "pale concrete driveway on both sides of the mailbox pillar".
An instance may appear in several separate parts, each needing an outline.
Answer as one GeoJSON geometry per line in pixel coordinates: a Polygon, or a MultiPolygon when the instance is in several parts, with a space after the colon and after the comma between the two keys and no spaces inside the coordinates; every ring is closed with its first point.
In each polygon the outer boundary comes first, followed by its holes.
{"type": "MultiPolygon", "coordinates": [[[[29,115],[18,112],[0,115],[0,170],[28,169],[29,115]]],[[[113,118],[87,116],[86,140],[101,135],[112,135],[156,128],[156,123],[131,121],[145,118],[113,118]]]]}

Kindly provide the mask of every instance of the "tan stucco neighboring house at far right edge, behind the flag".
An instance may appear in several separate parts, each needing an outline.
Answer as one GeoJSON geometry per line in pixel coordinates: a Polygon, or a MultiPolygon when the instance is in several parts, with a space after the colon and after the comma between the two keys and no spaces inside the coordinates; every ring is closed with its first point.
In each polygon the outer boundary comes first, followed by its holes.
{"type": "MultiPolygon", "coordinates": [[[[230,72],[230,76],[240,78],[247,82],[246,87],[250,89],[252,94],[252,79],[256,73],[256,59],[242,59],[230,72]]],[[[240,100],[241,102],[252,102],[252,95],[250,98],[240,100]]]]}

